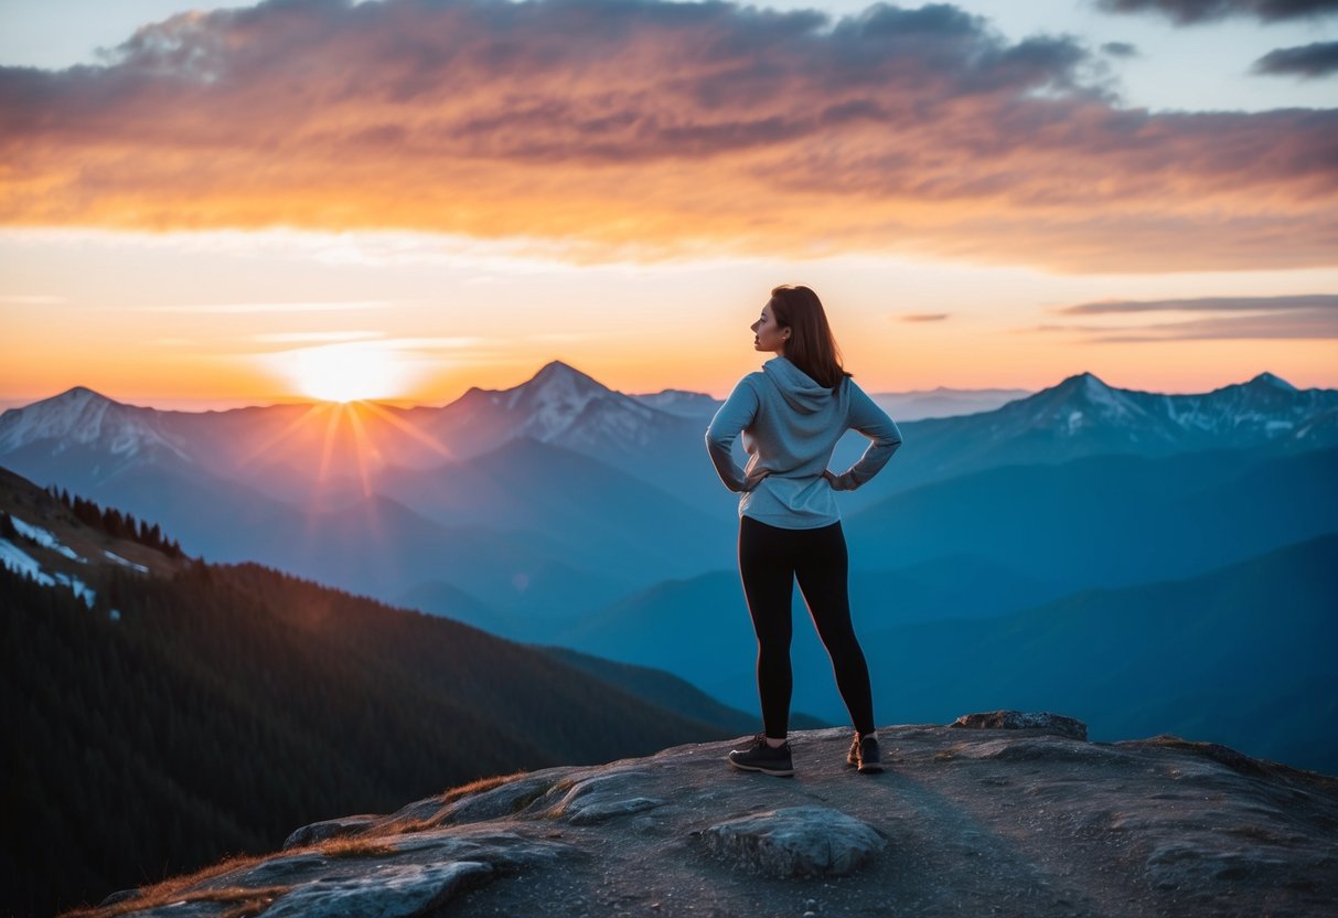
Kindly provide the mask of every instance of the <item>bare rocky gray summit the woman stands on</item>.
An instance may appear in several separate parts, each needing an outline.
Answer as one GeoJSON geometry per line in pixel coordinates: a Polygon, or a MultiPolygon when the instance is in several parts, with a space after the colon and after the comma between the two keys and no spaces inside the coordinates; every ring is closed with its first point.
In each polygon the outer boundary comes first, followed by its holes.
{"type": "Polygon", "coordinates": [[[1310,915],[1338,902],[1338,779],[1171,736],[993,712],[793,733],[795,777],[739,743],[508,775],[86,915],[1310,915]]]}

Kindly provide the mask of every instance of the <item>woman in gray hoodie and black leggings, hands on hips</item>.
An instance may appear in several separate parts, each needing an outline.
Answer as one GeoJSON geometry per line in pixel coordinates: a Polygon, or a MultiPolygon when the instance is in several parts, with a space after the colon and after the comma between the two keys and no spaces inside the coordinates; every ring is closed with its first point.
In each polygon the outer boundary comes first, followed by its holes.
{"type": "Polygon", "coordinates": [[[720,479],[739,499],[739,573],[757,633],[757,693],[763,732],[729,753],[744,771],[795,773],[789,743],[789,602],[793,583],[808,604],[818,636],[832,658],[836,686],[855,724],[846,760],[863,773],[880,772],[868,666],[850,621],[846,537],[832,491],[854,491],[887,464],[900,431],[842,368],[818,294],[777,286],[752,325],[753,348],[776,356],[749,373],[716,412],[706,448],[720,479]],[[827,470],[847,430],[871,443],[840,475],[827,470]],[[743,432],[748,467],[729,454],[743,432]]]}

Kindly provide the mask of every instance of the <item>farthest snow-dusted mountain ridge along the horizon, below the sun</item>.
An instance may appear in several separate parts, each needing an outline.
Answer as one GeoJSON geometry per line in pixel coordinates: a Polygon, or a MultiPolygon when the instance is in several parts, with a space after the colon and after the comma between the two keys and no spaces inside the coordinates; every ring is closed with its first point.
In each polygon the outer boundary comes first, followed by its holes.
{"type": "MultiPolygon", "coordinates": [[[[530,439],[614,466],[704,509],[719,506],[717,484],[700,455],[705,420],[717,405],[709,396],[676,389],[624,395],[561,361],[510,389],[474,388],[440,408],[376,407],[357,418],[330,405],[155,411],[76,387],[0,415],[0,462],[35,478],[41,478],[41,466],[52,466],[58,476],[76,466],[83,479],[71,484],[86,492],[150,464],[237,480],[276,496],[301,488],[304,476],[320,470],[324,492],[351,495],[368,482],[375,488],[377,478],[397,470],[440,468],[530,439]],[[75,450],[84,452],[71,462],[64,454],[75,450]],[[685,467],[700,474],[685,474],[685,467]]],[[[895,478],[918,483],[982,462],[1333,444],[1338,391],[1299,391],[1260,373],[1202,395],[1159,395],[1112,388],[1080,373],[991,411],[902,426],[914,439],[898,459],[895,478]]],[[[840,460],[860,448],[862,440],[848,435],[840,460]]]]}

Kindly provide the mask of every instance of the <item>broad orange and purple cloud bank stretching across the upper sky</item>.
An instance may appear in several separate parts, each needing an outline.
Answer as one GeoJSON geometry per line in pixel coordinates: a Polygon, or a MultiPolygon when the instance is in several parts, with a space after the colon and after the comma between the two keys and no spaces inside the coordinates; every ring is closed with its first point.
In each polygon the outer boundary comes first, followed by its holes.
{"type": "Polygon", "coordinates": [[[272,0],[146,27],[104,67],[0,68],[0,219],[1333,264],[1338,110],[1125,110],[1103,67],[951,5],[272,0]]]}

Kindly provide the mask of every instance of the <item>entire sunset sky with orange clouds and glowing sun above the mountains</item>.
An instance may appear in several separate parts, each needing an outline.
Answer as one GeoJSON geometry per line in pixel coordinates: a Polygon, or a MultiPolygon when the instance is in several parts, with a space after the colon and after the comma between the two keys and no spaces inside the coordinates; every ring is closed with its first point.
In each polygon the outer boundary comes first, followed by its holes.
{"type": "Polygon", "coordinates": [[[0,0],[0,407],[1338,388],[1338,0],[0,0]]]}

